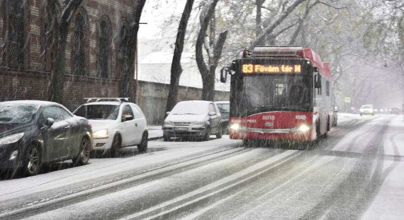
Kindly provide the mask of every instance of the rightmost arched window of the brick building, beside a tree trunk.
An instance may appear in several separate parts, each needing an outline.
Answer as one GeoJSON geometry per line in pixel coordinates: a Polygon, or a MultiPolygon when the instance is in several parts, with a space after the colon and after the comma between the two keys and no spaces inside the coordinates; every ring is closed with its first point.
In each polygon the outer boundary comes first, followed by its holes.
{"type": "Polygon", "coordinates": [[[129,73],[129,29],[122,25],[119,31],[118,64],[120,75],[127,76],[129,73]]]}

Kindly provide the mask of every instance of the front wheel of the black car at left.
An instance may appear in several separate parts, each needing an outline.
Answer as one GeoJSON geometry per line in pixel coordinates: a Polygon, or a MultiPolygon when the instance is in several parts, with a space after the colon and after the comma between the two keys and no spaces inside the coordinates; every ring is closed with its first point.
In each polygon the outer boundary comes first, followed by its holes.
{"type": "Polygon", "coordinates": [[[26,150],[23,172],[26,176],[35,176],[41,171],[41,150],[38,145],[31,144],[26,150]]]}

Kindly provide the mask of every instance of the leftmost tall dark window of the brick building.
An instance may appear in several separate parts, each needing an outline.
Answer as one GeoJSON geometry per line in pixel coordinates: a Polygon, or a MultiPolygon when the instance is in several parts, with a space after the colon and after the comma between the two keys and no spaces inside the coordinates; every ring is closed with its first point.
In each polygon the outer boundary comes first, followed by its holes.
{"type": "Polygon", "coordinates": [[[24,0],[10,0],[7,7],[7,65],[24,66],[24,0]]]}

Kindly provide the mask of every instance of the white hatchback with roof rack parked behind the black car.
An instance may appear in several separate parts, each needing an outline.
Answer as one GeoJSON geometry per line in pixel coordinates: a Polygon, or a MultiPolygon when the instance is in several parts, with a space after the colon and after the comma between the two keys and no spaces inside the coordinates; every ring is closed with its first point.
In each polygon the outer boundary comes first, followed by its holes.
{"type": "Polygon", "coordinates": [[[87,118],[93,125],[95,151],[115,157],[120,148],[137,145],[139,152],[146,152],[147,122],[138,105],[120,98],[87,100],[73,113],[87,118]]]}

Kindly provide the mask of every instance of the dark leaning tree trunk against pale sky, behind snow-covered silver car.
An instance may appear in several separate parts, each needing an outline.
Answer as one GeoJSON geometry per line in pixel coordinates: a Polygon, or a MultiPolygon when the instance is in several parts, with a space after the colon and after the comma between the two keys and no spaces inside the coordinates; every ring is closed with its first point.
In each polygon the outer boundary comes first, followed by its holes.
{"type": "Polygon", "coordinates": [[[187,3],[184,7],[184,12],[181,16],[180,24],[178,26],[177,39],[175,40],[175,49],[171,64],[170,88],[168,91],[166,111],[172,110],[175,104],[177,104],[178,85],[182,73],[181,55],[182,51],[184,50],[185,33],[187,31],[187,25],[192,11],[193,1],[194,0],[187,0],[187,3]]]}

